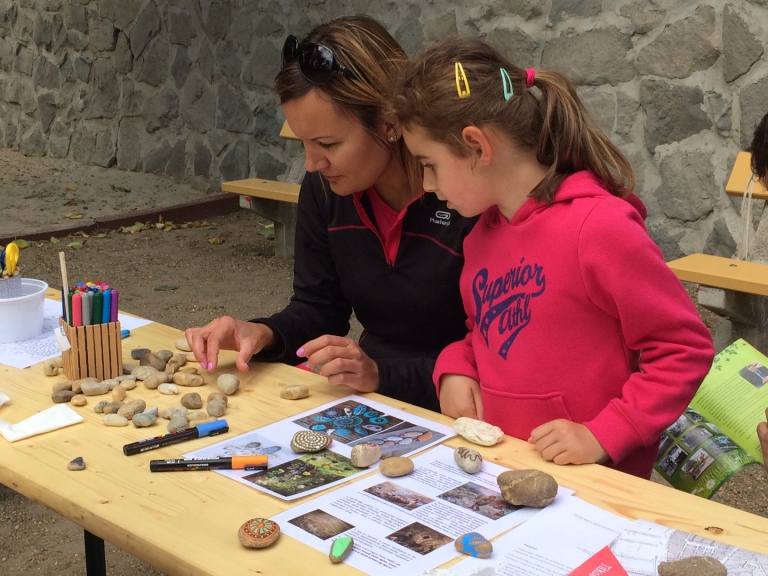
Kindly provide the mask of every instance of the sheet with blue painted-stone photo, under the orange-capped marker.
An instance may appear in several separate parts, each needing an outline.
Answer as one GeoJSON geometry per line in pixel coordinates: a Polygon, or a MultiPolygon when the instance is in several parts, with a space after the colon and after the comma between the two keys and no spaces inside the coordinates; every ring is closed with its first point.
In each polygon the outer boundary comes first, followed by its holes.
{"type": "Polygon", "coordinates": [[[269,470],[266,472],[216,472],[283,500],[294,500],[377,468],[378,463],[364,469],[351,465],[349,456],[356,444],[377,443],[385,455],[402,456],[419,452],[455,435],[449,426],[351,395],[189,452],[184,457],[268,454],[269,470]],[[299,430],[308,428],[330,434],[333,443],[316,454],[296,454],[290,448],[291,439],[299,430]]]}

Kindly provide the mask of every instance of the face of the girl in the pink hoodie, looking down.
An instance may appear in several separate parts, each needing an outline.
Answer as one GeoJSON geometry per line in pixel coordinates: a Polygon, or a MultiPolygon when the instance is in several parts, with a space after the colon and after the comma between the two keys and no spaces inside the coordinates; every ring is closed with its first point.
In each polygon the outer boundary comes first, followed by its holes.
{"type": "Polygon", "coordinates": [[[424,190],[448,201],[448,208],[465,217],[477,216],[495,202],[474,175],[474,158],[454,154],[445,144],[431,140],[418,126],[403,130],[405,144],[424,167],[424,190]]]}

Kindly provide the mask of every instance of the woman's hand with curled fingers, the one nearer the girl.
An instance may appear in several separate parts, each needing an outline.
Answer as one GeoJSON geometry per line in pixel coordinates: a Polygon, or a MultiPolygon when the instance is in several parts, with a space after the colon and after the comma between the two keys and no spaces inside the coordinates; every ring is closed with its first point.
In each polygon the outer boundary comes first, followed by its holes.
{"type": "Polygon", "coordinates": [[[306,358],[312,371],[327,377],[329,384],[346,384],[358,392],[379,389],[379,367],[350,338],[326,334],[304,344],[296,355],[306,358]]]}

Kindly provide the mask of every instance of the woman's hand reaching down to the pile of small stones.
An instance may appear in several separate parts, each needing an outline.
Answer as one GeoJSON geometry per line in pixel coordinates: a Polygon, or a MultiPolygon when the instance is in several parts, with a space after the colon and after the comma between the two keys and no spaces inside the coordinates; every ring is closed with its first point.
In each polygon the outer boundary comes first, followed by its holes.
{"type": "Polygon", "coordinates": [[[184,334],[203,370],[215,370],[219,350],[237,350],[237,369],[248,372],[251,356],[271,345],[275,333],[266,324],[235,320],[231,316],[216,318],[202,328],[187,328],[184,334]]]}

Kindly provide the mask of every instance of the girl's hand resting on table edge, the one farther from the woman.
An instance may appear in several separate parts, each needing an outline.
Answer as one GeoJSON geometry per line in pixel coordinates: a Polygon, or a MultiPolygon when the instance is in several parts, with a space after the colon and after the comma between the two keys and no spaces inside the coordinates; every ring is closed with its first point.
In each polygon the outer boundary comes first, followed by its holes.
{"type": "Polygon", "coordinates": [[[608,452],[589,428],[570,420],[552,420],[534,428],[528,442],[536,445],[544,460],[555,464],[599,464],[608,460],[608,452]]]}

